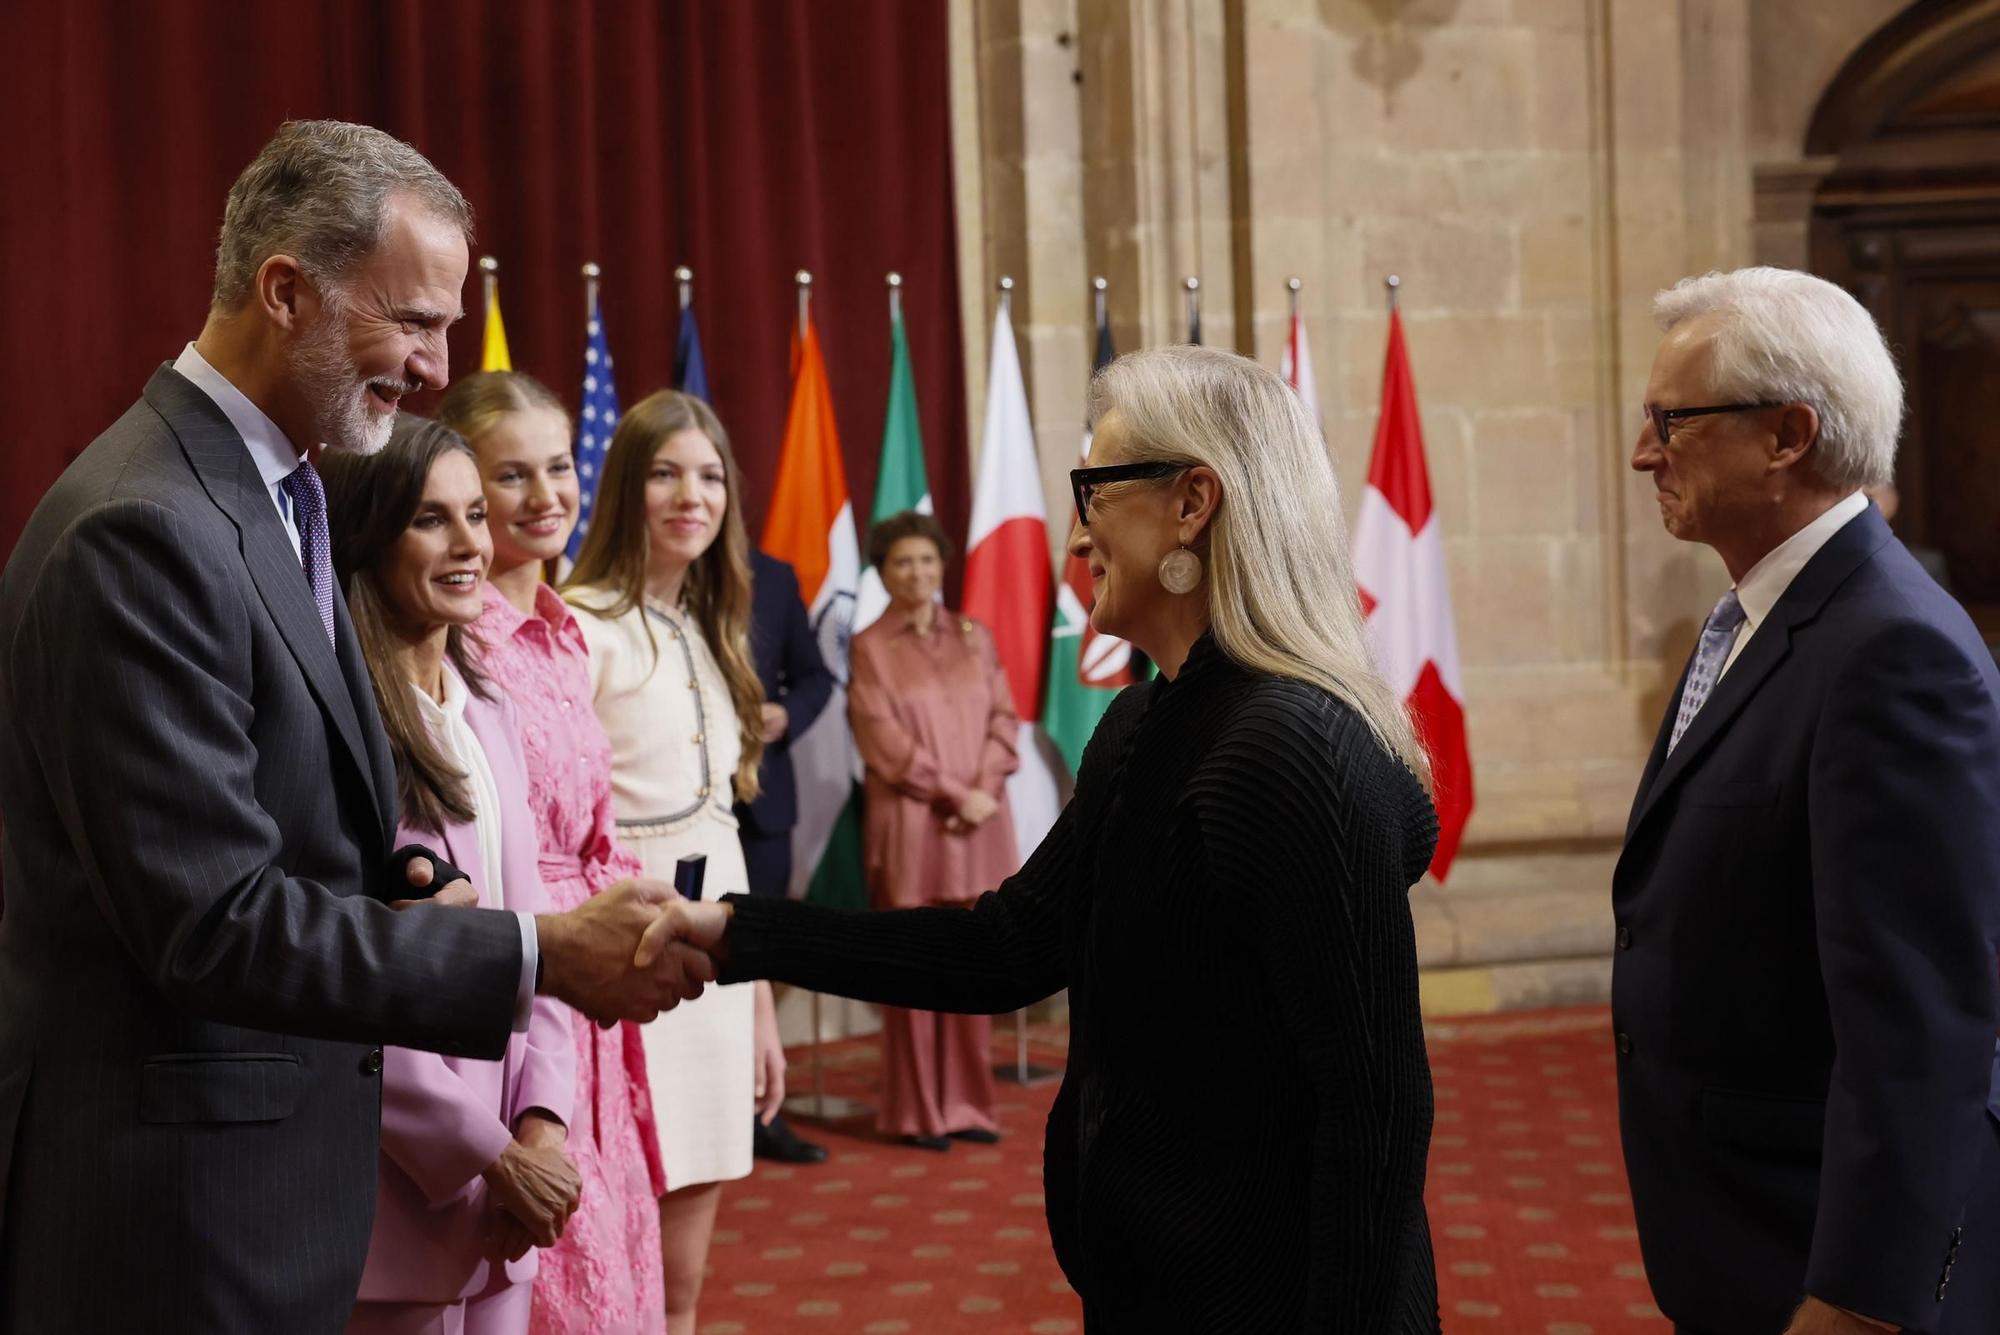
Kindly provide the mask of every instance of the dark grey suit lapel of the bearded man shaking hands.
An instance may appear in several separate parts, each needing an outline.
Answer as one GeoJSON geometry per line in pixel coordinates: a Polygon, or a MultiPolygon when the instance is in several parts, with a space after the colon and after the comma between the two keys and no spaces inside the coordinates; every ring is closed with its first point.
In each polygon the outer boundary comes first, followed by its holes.
{"type": "MultiPolygon", "coordinates": [[[[312,602],[312,586],[306,584],[298,552],[292,550],[292,540],[284,534],[278,508],[270,504],[270,492],[264,490],[264,480],[256,472],[250,448],[244,446],[242,436],[236,434],[236,428],[230,426],[230,420],[214,400],[168,366],[162,366],[146,384],[146,402],[160,412],[174,430],[174,436],[180,438],[180,448],[186,452],[188,464],[194,466],[202,488],[236,526],[244,566],[250,568],[250,580],[264,600],[264,610],[270,612],[270,620],[276,622],[286,648],[292,650],[292,658],[298,662],[306,685],[332,723],[334,735],[340,737],[354,759],[354,767],[360,769],[362,779],[368,783],[378,811],[388,811],[388,797],[382,793],[380,771],[370,751],[370,741],[380,743],[380,739],[368,737],[370,729],[362,727],[348,679],[334,658],[334,646],[326,644],[326,626],[320,622],[318,604],[312,602]]],[[[346,608],[340,608],[338,602],[334,618],[334,634],[344,636],[352,652],[354,624],[346,620],[346,608]]],[[[366,683],[366,669],[360,675],[366,683]]],[[[370,721],[374,719],[372,701],[368,717],[370,721]]],[[[376,725],[374,731],[380,731],[380,727],[376,725]]],[[[390,781],[390,789],[394,789],[394,781],[390,781]]],[[[388,837],[386,831],[388,821],[384,819],[380,835],[384,841],[388,837]]]]}

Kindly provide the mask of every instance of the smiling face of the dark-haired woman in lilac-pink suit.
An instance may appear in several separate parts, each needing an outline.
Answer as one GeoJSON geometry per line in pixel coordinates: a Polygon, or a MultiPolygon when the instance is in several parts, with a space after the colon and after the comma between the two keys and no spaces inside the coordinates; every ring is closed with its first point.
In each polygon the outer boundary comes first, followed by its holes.
{"type": "Polygon", "coordinates": [[[470,626],[480,618],[492,554],[480,470],[462,450],[446,450],[430,466],[416,516],[376,572],[382,606],[412,636],[470,626]]]}

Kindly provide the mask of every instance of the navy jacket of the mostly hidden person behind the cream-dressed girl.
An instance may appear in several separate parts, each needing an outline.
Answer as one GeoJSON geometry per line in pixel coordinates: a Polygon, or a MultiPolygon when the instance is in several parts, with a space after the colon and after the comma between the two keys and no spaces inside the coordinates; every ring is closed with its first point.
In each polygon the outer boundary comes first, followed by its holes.
{"type": "Polygon", "coordinates": [[[756,801],[736,803],[736,819],[750,835],[778,835],[798,823],[798,781],[792,777],[792,739],[812,727],[834,693],[834,673],[820,658],[798,576],[774,556],[750,550],[750,658],[764,681],[764,697],[784,705],[790,723],[764,747],[756,801]]]}

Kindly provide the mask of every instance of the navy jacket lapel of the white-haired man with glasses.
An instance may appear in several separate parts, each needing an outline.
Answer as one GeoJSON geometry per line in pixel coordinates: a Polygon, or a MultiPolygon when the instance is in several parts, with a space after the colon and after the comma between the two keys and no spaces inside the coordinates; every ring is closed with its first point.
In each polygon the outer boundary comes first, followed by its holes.
{"type": "MultiPolygon", "coordinates": [[[[1650,783],[1640,785],[1638,803],[1632,809],[1632,819],[1626,825],[1626,839],[1638,833],[1640,823],[1646,815],[1660,803],[1660,797],[1674,787],[1674,783],[1696,763],[1708,745],[1722,735],[1722,729],[1736,717],[1744,705],[1758,693],[1764,681],[1784,664],[1792,652],[1792,632],[1806,622],[1820,616],[1820,610],[1834,596],[1834,592],[1854,574],[1854,570],[1868,560],[1884,542],[1888,542],[1888,524],[1882,522],[1880,512],[1870,506],[1846,526],[1842,526],[1826,546],[1820,548],[1804,570],[1792,580],[1784,596],[1778,598],[1778,606],[1770,610],[1764,624],[1758,626],[1756,634],[1750,636],[1750,644],[1730,666],[1728,673],[1716,681],[1716,689],[1710,691],[1708,699],[1702,703],[1702,711],[1694,715],[1688,723],[1688,731],[1680,735],[1680,745],[1674,747],[1672,755],[1660,759],[1666,749],[1666,737],[1672,729],[1674,713],[1680,711],[1680,691],[1674,691],[1674,703],[1668,709],[1666,725],[1660,729],[1660,737],[1654,741],[1656,763],[1648,765],[1650,783]]],[[[1682,673],[1682,687],[1686,687],[1686,673],[1682,673]]]]}

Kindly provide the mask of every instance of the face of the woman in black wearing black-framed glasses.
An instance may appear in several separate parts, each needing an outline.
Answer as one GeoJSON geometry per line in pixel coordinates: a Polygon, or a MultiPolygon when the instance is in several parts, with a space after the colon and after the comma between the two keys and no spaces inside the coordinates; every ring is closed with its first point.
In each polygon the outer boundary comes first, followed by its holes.
{"type": "MultiPolygon", "coordinates": [[[[1112,410],[1090,438],[1090,468],[1128,462],[1124,418],[1112,410]]],[[[1180,546],[1180,490],[1166,482],[1112,482],[1090,500],[1090,528],[1070,528],[1070,554],[1090,564],[1090,628],[1138,646],[1168,622],[1172,594],[1160,558],[1180,546]]]]}

